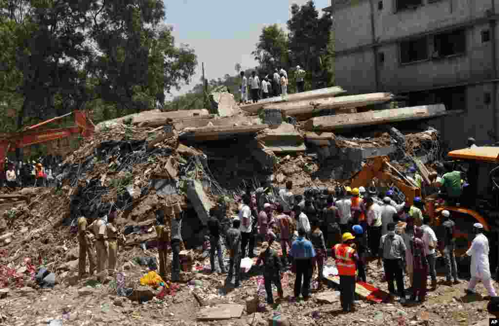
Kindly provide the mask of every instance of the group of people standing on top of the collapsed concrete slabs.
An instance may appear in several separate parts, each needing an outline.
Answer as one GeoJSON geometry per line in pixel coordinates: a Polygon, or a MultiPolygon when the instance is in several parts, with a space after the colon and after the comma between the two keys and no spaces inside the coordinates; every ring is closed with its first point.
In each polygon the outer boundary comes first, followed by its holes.
{"type": "MultiPolygon", "coordinates": [[[[244,71],[241,71],[240,74],[241,103],[246,104],[249,102],[249,94],[251,95],[250,100],[252,103],[257,103],[259,99],[266,99],[268,97],[287,96],[287,72],[282,68],[280,70],[275,68],[273,73],[261,77],[256,75],[256,71],[253,71],[249,78],[245,76],[244,71]]],[[[301,69],[299,65],[296,66],[295,79],[297,93],[305,90],[305,74],[305,70],[301,69]]]]}

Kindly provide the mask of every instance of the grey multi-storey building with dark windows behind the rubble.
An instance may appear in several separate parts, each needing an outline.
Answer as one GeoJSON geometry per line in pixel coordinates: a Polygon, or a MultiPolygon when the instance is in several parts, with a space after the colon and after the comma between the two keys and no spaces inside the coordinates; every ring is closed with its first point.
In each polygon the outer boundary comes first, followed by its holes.
{"type": "MultiPolygon", "coordinates": [[[[335,83],[455,111],[429,123],[449,149],[499,136],[499,0],[332,0],[335,83]],[[462,111],[462,112],[461,112],[462,111]]],[[[498,137],[499,140],[499,137],[498,137]]]]}

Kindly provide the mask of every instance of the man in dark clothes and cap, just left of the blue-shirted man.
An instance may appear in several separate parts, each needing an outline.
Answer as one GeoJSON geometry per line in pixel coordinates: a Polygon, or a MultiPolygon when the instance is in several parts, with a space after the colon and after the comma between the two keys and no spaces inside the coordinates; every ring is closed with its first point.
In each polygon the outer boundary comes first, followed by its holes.
{"type": "Polygon", "coordinates": [[[272,283],[277,287],[277,294],[279,298],[282,299],[284,293],[282,291],[281,285],[281,275],[280,275],[280,259],[275,250],[273,250],[270,242],[263,242],[261,244],[260,254],[256,260],[256,266],[263,263],[263,282],[265,284],[265,292],[267,293],[267,304],[271,305],[274,303],[272,297],[272,283]]]}

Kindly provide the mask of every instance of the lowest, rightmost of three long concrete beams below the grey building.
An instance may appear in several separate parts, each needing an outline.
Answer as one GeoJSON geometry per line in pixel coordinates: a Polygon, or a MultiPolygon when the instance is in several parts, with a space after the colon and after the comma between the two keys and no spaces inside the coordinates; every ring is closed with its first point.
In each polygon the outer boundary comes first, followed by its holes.
{"type": "Polygon", "coordinates": [[[446,114],[443,104],[423,105],[393,110],[316,117],[308,120],[304,128],[309,131],[334,131],[400,121],[430,119],[445,116],[446,114]]]}

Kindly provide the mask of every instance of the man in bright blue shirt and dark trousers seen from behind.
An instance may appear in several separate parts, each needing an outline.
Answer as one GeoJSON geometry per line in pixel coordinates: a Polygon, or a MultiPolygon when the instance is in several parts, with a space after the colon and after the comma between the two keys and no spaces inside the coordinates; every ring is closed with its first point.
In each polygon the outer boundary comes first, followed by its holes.
{"type": "Polygon", "coordinates": [[[296,271],[294,281],[294,297],[297,300],[303,295],[304,300],[308,300],[308,291],[310,289],[310,279],[312,278],[313,265],[312,259],[315,257],[315,250],[310,241],[305,239],[307,234],[304,228],[298,228],[298,238],[291,246],[290,255],[293,257],[293,270],[296,271]]]}

